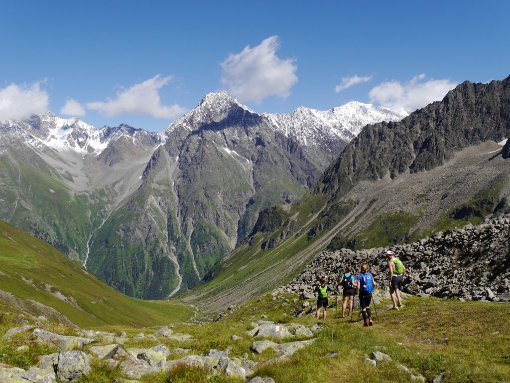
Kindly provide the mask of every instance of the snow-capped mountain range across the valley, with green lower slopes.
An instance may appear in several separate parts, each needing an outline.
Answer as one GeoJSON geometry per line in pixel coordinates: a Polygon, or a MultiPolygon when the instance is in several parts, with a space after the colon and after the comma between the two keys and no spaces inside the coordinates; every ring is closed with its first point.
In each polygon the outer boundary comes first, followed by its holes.
{"type": "Polygon", "coordinates": [[[49,112],[0,122],[0,219],[125,294],[164,298],[194,286],[261,209],[302,195],[360,124],[400,118],[360,103],[258,114],[220,92],[161,134],[49,112]]]}

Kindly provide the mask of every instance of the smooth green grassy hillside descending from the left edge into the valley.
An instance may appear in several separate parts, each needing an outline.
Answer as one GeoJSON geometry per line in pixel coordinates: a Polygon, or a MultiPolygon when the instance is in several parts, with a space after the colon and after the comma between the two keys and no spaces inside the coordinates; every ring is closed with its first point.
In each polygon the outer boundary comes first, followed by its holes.
{"type": "Polygon", "coordinates": [[[47,243],[0,221],[0,312],[71,326],[154,326],[188,320],[193,308],[127,297],[47,243]]]}

